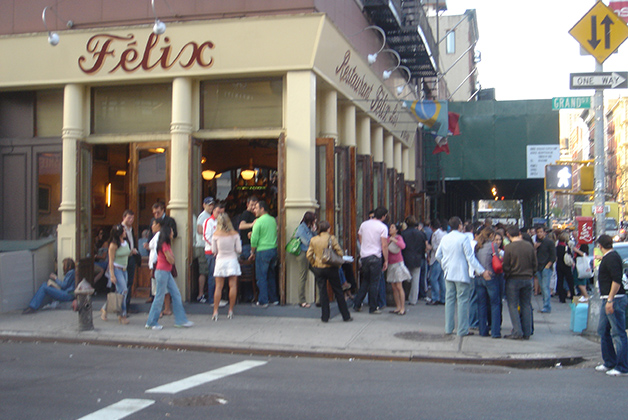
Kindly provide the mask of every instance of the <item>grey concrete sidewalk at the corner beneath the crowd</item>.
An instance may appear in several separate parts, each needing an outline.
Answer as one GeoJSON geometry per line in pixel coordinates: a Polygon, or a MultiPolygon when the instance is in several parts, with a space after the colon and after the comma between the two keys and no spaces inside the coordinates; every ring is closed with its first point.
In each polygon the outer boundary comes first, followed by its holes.
{"type": "MultiPolygon", "coordinates": [[[[320,308],[294,305],[253,308],[235,307],[228,320],[227,308],[220,309],[217,322],[211,321],[207,304],[186,304],[193,328],[174,328],[172,316],[162,318],[161,331],[146,330],[150,305],[135,302],[139,313],[130,315],[129,325],[120,325],[115,316],[100,319],[102,300],[94,301],[94,330],[78,331],[78,315],[68,309],[41,310],[30,315],[12,312],[0,315],[0,339],[16,341],[58,341],[99,345],[147,346],[194,351],[284,356],[360,358],[400,361],[432,361],[469,364],[496,364],[513,367],[563,366],[599,359],[596,337],[584,337],[569,330],[570,308],[552,302],[552,313],[542,314],[541,298],[533,298],[534,335],[527,341],[473,336],[444,335],[444,306],[427,306],[420,301],[408,306],[405,316],[388,313],[370,315],[351,311],[353,322],[342,322],[335,303],[329,323],[320,321],[320,308]]],[[[66,306],[67,308],[67,306],[66,306]]],[[[510,332],[504,308],[502,335],[510,332]]]]}

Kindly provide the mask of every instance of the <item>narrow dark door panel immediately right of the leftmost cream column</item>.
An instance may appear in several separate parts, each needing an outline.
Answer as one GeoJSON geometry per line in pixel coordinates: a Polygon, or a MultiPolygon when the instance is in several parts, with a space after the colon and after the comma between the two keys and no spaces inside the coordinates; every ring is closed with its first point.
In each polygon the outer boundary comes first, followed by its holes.
{"type": "MultiPolygon", "coordinates": [[[[92,148],[79,142],[76,179],[76,282],[94,279],[92,254],[92,148]]],[[[92,284],[93,285],[93,284],[92,284]]]]}

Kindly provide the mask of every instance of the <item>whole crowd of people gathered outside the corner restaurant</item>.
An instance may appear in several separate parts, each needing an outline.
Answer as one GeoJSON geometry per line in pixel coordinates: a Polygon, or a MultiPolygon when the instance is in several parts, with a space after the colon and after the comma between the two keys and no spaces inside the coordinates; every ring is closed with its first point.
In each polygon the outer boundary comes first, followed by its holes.
{"type": "MultiPolygon", "coordinates": [[[[212,197],[203,201],[204,210],[196,220],[195,257],[198,261],[197,301],[213,305],[212,320],[218,321],[219,308],[228,304],[227,318],[232,319],[237,298],[237,278],[241,264],[255,266],[257,300],[260,308],[278,305],[277,295],[277,222],[269,214],[268,204],[251,196],[247,209],[234,228],[225,213],[224,203],[212,197]],[[223,289],[228,286],[228,301],[223,289]]],[[[105,255],[109,287],[122,295],[118,321],[128,324],[129,290],[140,257],[149,252],[153,271],[153,301],[146,322],[147,329],[160,330],[164,314],[174,313],[176,327],[191,327],[174,277],[176,265],[171,242],[177,236],[175,221],[165,214],[163,203],[153,205],[150,234],[137,241],[133,232],[134,214],[126,210],[122,223],[115,225],[107,242],[105,255]],[[141,248],[141,250],[140,250],[141,248]],[[171,305],[164,309],[165,296],[171,305]]],[[[541,313],[552,311],[551,298],[560,303],[589,300],[593,271],[599,270],[599,288],[604,300],[598,333],[602,338],[604,363],[598,371],[609,375],[628,375],[628,343],[625,332],[626,295],[622,283],[623,262],[613,251],[608,235],[597,239],[590,255],[588,244],[578,244],[568,230],[548,231],[544,226],[520,229],[517,226],[466,222],[458,217],[433,220],[424,224],[414,216],[401,223],[390,223],[388,211],[378,207],[369,214],[357,232],[360,282],[356,289],[352,259],[344,255],[327,221],[317,221],[306,212],[293,235],[300,241],[295,255],[298,265],[298,304],[309,308],[306,300],[308,271],[314,274],[317,306],[321,320],[328,322],[330,304],[327,286],[335,296],[342,319],[352,321],[349,306],[362,310],[368,297],[368,312],[381,314],[387,306],[386,285],[390,284],[394,310],[403,316],[406,304],[444,305],[445,334],[502,338],[502,306],[505,301],[512,330],[504,338],[529,340],[534,333],[532,296],[542,295],[541,313]],[[333,258],[330,253],[336,255],[333,258]],[[577,262],[577,263],[576,263],[577,262]],[[407,286],[404,287],[404,282],[407,286]],[[355,291],[356,294],[352,295],[355,291]],[[456,323],[457,320],[457,323],[456,323]]],[[[99,264],[99,262],[97,262],[99,264]]],[[[97,275],[102,273],[97,271],[97,275]]],[[[38,310],[45,299],[72,300],[74,262],[64,260],[64,280],[51,275],[24,310],[38,310]]],[[[249,291],[253,295],[253,290],[249,291]]],[[[107,320],[106,306],[101,317],[107,320]]]]}

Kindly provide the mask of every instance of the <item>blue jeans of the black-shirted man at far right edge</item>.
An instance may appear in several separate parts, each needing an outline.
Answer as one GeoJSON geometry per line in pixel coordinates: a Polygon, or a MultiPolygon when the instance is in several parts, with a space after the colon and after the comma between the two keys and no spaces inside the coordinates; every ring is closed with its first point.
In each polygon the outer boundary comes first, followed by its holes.
{"type": "Polygon", "coordinates": [[[628,373],[628,339],[626,337],[626,305],[628,297],[622,296],[613,299],[613,313],[607,314],[606,299],[602,301],[600,309],[600,323],[597,333],[600,335],[602,360],[609,369],[617,369],[621,373],[628,373]]]}

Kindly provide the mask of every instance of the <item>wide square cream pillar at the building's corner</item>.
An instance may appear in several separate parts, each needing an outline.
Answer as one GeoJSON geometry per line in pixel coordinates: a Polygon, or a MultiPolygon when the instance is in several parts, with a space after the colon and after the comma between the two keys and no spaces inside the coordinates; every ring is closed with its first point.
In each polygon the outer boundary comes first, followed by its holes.
{"type": "MultiPolygon", "coordinates": [[[[329,97],[328,100],[331,101],[329,97]]],[[[316,75],[313,72],[309,70],[288,72],[285,104],[286,226],[281,234],[289,237],[299,225],[303,214],[318,208],[316,202],[316,75]]],[[[299,268],[292,255],[286,255],[285,264],[286,300],[287,303],[296,303],[299,268]]],[[[306,297],[309,301],[314,299],[313,281],[308,282],[306,297]]]]}

